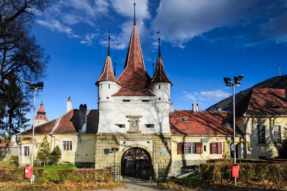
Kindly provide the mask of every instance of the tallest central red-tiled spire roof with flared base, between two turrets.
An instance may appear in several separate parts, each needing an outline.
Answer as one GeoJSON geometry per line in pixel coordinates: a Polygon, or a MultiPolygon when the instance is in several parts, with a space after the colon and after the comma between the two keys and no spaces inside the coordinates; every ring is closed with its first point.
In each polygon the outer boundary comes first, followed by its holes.
{"type": "Polygon", "coordinates": [[[122,88],[113,96],[155,96],[155,94],[146,88],[151,77],[146,72],[144,65],[135,18],[125,68],[118,80],[121,83],[122,88]]]}

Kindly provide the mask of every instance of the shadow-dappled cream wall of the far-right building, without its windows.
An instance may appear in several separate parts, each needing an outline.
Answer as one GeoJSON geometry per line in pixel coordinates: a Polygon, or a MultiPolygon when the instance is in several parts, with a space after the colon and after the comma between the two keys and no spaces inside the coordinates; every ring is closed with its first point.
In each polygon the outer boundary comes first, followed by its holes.
{"type": "MultiPolygon", "coordinates": [[[[287,123],[287,117],[245,117],[246,120],[246,141],[247,158],[258,159],[259,157],[271,158],[278,156],[278,148],[280,143],[274,143],[273,126],[280,126],[281,137],[282,131],[287,123]],[[257,125],[265,126],[266,143],[258,143],[257,125]]],[[[236,119],[236,124],[244,132],[244,120],[236,119]]]]}

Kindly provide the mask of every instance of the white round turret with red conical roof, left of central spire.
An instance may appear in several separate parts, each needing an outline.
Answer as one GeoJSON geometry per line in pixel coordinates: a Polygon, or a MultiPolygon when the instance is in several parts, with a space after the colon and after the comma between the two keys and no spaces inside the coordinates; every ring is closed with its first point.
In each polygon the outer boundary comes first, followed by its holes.
{"type": "Polygon", "coordinates": [[[115,101],[112,95],[121,88],[121,84],[113,72],[112,60],[110,58],[110,37],[108,37],[108,56],[106,57],[102,75],[96,82],[96,86],[98,86],[98,109],[103,113],[110,113],[115,110],[115,101]]]}

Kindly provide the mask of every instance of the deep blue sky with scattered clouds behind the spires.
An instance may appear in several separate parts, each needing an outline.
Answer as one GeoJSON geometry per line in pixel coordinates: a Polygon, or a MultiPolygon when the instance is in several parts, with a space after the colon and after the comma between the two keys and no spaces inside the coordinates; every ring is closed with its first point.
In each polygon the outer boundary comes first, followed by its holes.
{"type": "MultiPolygon", "coordinates": [[[[43,97],[47,118],[87,104],[97,109],[97,86],[107,56],[116,56],[116,77],[123,71],[133,26],[133,0],[51,1],[37,15],[33,34],[51,56],[49,77],[36,99],[43,97]]],[[[249,0],[136,0],[136,24],[146,70],[161,56],[173,83],[174,109],[204,110],[230,96],[223,77],[244,75],[236,92],[287,72],[287,2],[249,0]]],[[[155,63],[156,64],[156,63],[155,63]]],[[[28,114],[28,118],[33,114],[28,114]]],[[[31,121],[32,123],[32,121],[31,121]]]]}

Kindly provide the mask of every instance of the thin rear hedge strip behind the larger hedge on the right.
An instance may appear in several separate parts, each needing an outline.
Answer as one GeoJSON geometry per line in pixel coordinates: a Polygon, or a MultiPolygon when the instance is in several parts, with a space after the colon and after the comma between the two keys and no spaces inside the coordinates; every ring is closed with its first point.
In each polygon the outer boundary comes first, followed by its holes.
{"type": "MultiPolygon", "coordinates": [[[[206,160],[206,163],[211,163],[211,164],[233,164],[234,159],[209,159],[206,160]]],[[[257,163],[257,164],[287,164],[286,159],[273,159],[269,158],[266,160],[262,159],[236,159],[236,163],[257,163]]]]}

